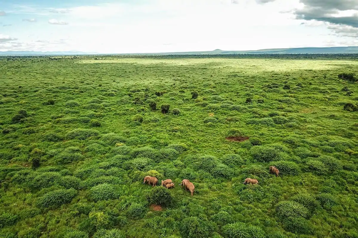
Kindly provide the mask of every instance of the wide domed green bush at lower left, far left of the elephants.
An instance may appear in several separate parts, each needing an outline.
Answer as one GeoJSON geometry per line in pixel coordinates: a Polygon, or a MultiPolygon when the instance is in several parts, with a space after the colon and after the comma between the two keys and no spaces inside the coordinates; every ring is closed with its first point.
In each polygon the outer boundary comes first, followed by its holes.
{"type": "Polygon", "coordinates": [[[39,207],[56,208],[62,204],[66,204],[72,201],[77,195],[77,191],[73,188],[70,189],[58,189],[52,192],[46,193],[40,197],[37,201],[39,207]]]}

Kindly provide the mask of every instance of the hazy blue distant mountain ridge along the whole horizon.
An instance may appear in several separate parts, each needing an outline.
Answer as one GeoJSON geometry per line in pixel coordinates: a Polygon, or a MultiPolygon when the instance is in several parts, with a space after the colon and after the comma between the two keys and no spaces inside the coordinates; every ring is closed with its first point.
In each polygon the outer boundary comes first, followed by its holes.
{"type": "Polygon", "coordinates": [[[346,47],[302,47],[284,49],[262,49],[246,51],[192,51],[192,52],[163,52],[163,53],[128,53],[101,54],[81,51],[0,51],[0,56],[34,56],[34,55],[229,55],[229,54],[358,54],[358,46],[346,47]]]}

